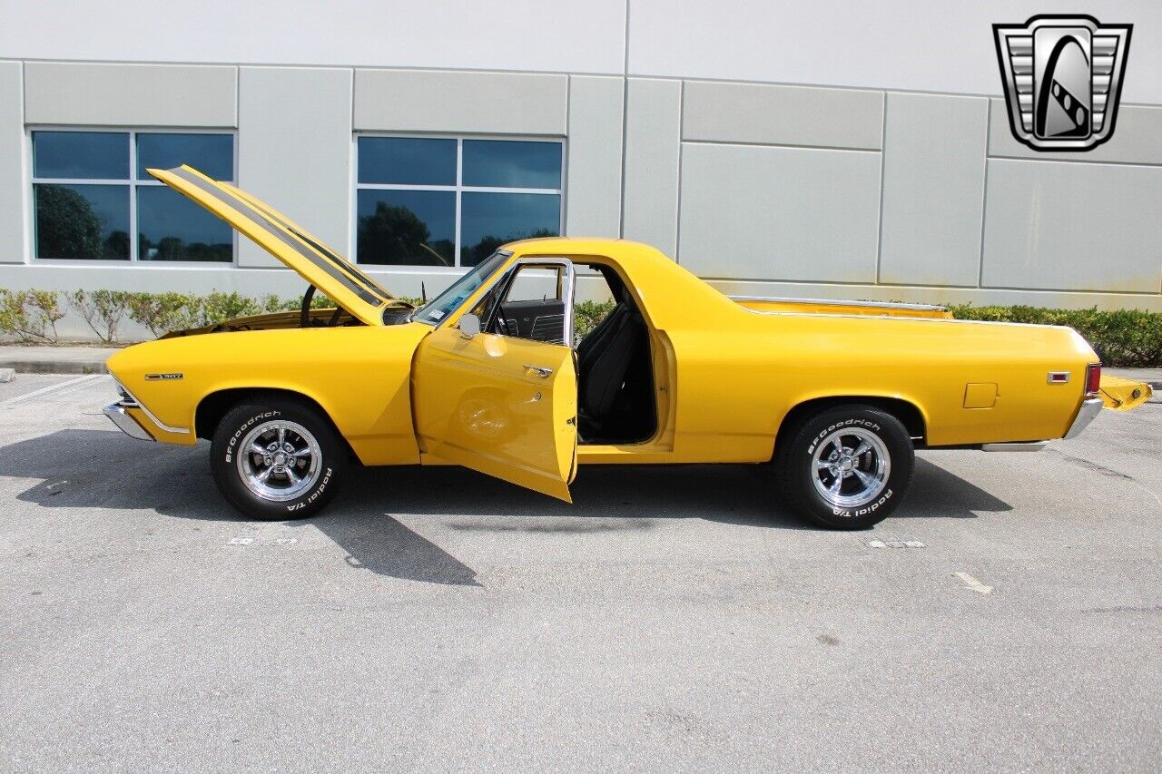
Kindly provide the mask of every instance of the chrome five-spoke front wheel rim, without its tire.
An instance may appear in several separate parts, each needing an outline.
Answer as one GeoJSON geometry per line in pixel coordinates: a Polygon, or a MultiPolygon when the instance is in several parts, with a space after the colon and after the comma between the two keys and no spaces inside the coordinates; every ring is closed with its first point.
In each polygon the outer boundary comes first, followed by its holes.
{"type": "Polygon", "coordinates": [[[246,433],[236,454],[238,476],[263,500],[282,502],[308,492],[318,480],[323,452],[297,422],[264,422],[246,433]]]}

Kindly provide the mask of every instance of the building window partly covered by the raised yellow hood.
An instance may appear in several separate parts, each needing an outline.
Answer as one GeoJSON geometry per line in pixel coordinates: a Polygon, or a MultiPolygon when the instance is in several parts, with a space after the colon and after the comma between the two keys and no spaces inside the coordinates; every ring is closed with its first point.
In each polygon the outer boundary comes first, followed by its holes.
{"type": "Polygon", "coordinates": [[[181,164],[232,181],[234,135],[33,131],[36,257],[232,261],[229,224],[145,172],[181,164]]]}

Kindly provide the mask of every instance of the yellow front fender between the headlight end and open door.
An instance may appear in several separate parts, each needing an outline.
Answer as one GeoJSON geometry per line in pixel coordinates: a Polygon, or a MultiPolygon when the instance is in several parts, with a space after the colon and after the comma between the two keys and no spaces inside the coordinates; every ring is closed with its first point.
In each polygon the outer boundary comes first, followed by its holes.
{"type": "MultiPolygon", "coordinates": [[[[411,424],[411,356],[431,331],[393,327],[206,334],[146,342],[109,370],[166,424],[193,428],[198,406],[224,389],[285,389],[317,402],[365,465],[418,463],[411,424]],[[179,380],[145,379],[181,373],[179,380]]],[[[195,443],[193,432],[159,438],[195,443]]]]}

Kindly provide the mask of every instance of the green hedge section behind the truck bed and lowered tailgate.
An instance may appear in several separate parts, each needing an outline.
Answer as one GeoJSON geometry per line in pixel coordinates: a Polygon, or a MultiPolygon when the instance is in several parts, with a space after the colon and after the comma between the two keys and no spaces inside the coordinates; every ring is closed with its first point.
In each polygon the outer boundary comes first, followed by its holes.
{"type": "Polygon", "coordinates": [[[1162,313],[1140,309],[1112,311],[1046,309],[1042,307],[974,307],[953,304],[957,320],[1068,325],[1090,343],[1106,366],[1149,368],[1162,366],[1162,313]]]}

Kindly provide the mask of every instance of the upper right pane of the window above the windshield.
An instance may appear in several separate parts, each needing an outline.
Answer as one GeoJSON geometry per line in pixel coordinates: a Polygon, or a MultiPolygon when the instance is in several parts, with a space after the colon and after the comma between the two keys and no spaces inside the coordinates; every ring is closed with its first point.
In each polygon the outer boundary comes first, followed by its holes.
{"type": "Polygon", "coordinates": [[[510,139],[465,139],[464,185],[503,188],[560,188],[561,144],[510,139]]]}

